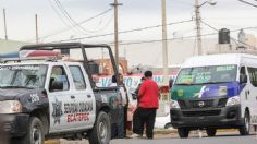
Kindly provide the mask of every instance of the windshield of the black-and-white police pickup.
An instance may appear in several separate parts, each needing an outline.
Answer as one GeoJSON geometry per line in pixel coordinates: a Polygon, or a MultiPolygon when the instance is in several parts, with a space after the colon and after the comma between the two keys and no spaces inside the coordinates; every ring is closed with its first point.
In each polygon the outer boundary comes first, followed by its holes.
{"type": "Polygon", "coordinates": [[[42,88],[47,65],[0,65],[0,87],[42,88]]]}

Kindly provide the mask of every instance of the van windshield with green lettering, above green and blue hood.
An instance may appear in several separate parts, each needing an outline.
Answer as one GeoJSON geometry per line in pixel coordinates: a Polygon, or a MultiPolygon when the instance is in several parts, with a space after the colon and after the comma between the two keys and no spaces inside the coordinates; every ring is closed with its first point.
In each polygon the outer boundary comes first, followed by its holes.
{"type": "Polygon", "coordinates": [[[181,69],[175,85],[215,84],[234,82],[236,65],[209,65],[181,69]]]}

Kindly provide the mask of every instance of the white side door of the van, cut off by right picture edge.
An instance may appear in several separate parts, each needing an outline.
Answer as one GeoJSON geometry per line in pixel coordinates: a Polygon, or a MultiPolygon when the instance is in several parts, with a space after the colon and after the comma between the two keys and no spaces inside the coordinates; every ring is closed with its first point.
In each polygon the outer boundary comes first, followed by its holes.
{"type": "Polygon", "coordinates": [[[252,123],[257,124],[257,68],[247,67],[248,75],[249,75],[249,88],[247,91],[247,100],[250,113],[252,123]]]}

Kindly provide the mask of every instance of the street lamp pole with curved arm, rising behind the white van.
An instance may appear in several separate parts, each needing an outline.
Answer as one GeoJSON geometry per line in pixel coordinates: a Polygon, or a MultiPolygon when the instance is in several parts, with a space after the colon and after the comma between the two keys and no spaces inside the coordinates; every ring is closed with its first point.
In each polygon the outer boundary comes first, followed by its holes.
{"type": "Polygon", "coordinates": [[[196,35],[197,35],[197,48],[198,48],[198,56],[203,55],[201,49],[201,37],[200,37],[200,7],[204,4],[209,3],[210,5],[215,5],[217,2],[213,0],[208,0],[199,4],[199,0],[195,0],[195,15],[196,15],[196,35]]]}

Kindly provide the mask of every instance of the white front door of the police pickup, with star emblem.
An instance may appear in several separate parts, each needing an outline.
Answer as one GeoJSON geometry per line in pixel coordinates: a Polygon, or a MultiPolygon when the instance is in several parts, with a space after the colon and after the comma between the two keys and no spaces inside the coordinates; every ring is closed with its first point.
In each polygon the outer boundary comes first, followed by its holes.
{"type": "MultiPolygon", "coordinates": [[[[48,74],[48,98],[49,98],[49,115],[50,115],[50,133],[60,131],[72,131],[75,129],[73,123],[68,122],[66,105],[75,103],[75,96],[70,86],[69,76],[64,65],[53,65],[48,74]]],[[[75,106],[69,107],[70,111],[74,110],[75,106]]]]}

